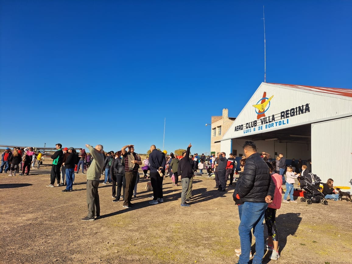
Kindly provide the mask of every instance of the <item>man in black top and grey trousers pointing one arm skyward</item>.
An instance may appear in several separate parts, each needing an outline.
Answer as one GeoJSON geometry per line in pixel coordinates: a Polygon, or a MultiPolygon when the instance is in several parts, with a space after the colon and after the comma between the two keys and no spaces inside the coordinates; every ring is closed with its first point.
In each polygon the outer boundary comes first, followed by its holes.
{"type": "MultiPolygon", "coordinates": [[[[190,179],[193,177],[193,165],[190,163],[189,152],[191,143],[187,147],[187,151],[182,153],[183,158],[178,163],[177,174],[181,175],[182,193],[181,193],[181,206],[190,206],[186,203],[186,194],[190,188],[190,179]]],[[[190,198],[190,197],[189,197],[190,198]]]]}

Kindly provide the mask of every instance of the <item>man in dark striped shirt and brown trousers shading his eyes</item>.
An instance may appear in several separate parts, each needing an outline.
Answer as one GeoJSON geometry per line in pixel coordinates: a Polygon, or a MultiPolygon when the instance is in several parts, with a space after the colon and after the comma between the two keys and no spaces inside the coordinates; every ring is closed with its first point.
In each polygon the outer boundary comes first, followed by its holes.
{"type": "Polygon", "coordinates": [[[125,162],[125,201],[123,207],[130,208],[132,207],[131,199],[133,194],[134,185],[137,181],[137,174],[139,165],[142,165],[137,153],[134,152],[134,145],[126,145],[121,149],[122,155],[124,156],[125,162]],[[126,149],[128,148],[128,151],[126,149]]]}

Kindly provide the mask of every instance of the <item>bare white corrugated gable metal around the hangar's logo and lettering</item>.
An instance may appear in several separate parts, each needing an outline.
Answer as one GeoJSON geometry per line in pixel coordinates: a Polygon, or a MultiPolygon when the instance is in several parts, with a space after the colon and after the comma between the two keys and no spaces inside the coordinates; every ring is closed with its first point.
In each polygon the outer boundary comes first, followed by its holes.
{"type": "MultiPolygon", "coordinates": [[[[251,134],[275,131],[291,126],[347,117],[350,113],[352,113],[352,98],[350,97],[312,93],[279,85],[262,83],[246,106],[242,109],[229,130],[225,133],[223,139],[238,138],[251,134]],[[258,100],[262,98],[264,92],[266,92],[267,97],[274,95],[270,101],[270,107],[265,114],[266,117],[276,115],[275,121],[281,120],[280,113],[282,111],[286,111],[301,105],[305,106],[306,103],[309,104],[310,112],[289,117],[289,124],[286,125],[274,126],[271,128],[264,127],[263,130],[258,130],[257,127],[255,132],[253,130],[254,128],[252,128],[251,132],[245,131],[247,122],[257,120],[256,109],[253,105],[258,103],[258,100]],[[244,129],[235,131],[235,127],[238,125],[244,125],[244,129]]],[[[287,118],[283,120],[286,121],[287,118]]],[[[259,126],[259,124],[261,124],[260,120],[257,120],[257,122],[259,126]]]]}

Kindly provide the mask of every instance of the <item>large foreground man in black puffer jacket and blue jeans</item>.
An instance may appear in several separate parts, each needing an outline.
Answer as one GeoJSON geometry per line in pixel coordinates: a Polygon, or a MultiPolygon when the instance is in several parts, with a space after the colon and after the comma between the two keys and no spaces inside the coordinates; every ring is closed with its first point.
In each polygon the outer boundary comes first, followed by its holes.
{"type": "Polygon", "coordinates": [[[268,165],[257,152],[256,144],[246,141],[243,150],[246,155],[246,164],[238,192],[238,198],[243,202],[241,222],[238,227],[241,253],[237,256],[239,256],[239,264],[249,262],[250,233],[253,228],[256,237],[256,254],[252,263],[257,264],[262,263],[264,256],[263,220],[268,203],[272,203],[274,197],[275,183],[270,176],[268,165]]]}

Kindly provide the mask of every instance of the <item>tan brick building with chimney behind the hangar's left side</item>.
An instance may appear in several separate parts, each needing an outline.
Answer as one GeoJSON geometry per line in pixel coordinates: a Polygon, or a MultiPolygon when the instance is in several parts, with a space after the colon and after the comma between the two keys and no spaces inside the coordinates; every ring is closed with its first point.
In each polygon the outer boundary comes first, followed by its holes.
{"type": "MultiPolygon", "coordinates": [[[[212,117],[212,131],[210,134],[210,152],[220,152],[220,141],[236,118],[228,117],[228,109],[222,109],[222,115],[212,117]]],[[[226,153],[227,155],[229,153],[226,153]]]]}

